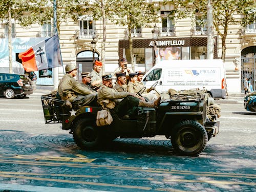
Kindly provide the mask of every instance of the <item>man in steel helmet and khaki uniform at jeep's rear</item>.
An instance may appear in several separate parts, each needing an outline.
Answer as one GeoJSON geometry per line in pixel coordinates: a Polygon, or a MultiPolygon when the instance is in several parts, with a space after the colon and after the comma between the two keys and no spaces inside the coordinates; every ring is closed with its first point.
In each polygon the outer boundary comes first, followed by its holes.
{"type": "Polygon", "coordinates": [[[83,105],[97,105],[97,93],[81,86],[81,83],[73,77],[77,75],[76,65],[70,64],[65,67],[66,75],[62,77],[58,85],[58,93],[62,100],[83,105]]]}

